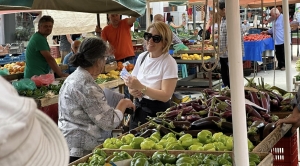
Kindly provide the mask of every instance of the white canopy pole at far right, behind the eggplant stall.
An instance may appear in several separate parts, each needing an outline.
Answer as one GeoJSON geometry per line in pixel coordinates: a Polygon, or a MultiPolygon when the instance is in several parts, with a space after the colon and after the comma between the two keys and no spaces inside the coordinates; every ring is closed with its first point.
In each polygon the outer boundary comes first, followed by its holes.
{"type": "Polygon", "coordinates": [[[283,25],[284,25],[284,54],[285,54],[285,73],[286,73],[286,90],[292,91],[292,76],[291,76],[291,35],[289,21],[289,1],[282,1],[283,10],[283,25]]]}

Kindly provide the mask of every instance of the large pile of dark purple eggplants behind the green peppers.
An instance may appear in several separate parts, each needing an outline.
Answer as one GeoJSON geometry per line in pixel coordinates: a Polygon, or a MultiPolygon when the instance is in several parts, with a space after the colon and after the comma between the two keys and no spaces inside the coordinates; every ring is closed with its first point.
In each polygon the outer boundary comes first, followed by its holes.
{"type": "MultiPolygon", "coordinates": [[[[142,131],[131,130],[136,136],[148,137],[159,130],[163,135],[170,132],[180,136],[191,134],[197,137],[199,131],[206,129],[212,133],[223,132],[232,135],[232,111],[230,90],[216,92],[203,90],[204,98],[176,104],[165,112],[157,113],[157,117],[149,118],[148,128],[142,131]]],[[[248,138],[257,145],[275,129],[278,116],[271,110],[288,107],[292,96],[281,96],[273,91],[245,91],[245,98],[255,105],[245,105],[247,114],[248,138]]]]}

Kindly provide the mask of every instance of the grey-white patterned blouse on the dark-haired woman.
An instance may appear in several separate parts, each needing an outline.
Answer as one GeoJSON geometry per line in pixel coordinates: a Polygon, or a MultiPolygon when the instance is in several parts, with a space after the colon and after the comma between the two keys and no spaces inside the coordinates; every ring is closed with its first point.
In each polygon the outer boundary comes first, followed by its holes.
{"type": "Polygon", "coordinates": [[[111,137],[123,113],[107,104],[103,90],[85,69],[78,67],[59,92],[58,127],[64,134],[70,156],[82,157],[111,137]]]}

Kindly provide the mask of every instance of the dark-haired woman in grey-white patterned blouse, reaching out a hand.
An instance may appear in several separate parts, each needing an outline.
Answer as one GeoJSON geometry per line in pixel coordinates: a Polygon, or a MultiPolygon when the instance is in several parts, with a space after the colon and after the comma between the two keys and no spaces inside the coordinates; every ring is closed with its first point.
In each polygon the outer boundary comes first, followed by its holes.
{"type": "Polygon", "coordinates": [[[77,69],[64,81],[59,92],[58,127],[70,151],[70,162],[89,153],[120,125],[126,108],[134,107],[129,99],[116,108],[107,103],[104,91],[95,79],[106,62],[106,44],[99,38],[84,39],[70,63],[77,69]]]}

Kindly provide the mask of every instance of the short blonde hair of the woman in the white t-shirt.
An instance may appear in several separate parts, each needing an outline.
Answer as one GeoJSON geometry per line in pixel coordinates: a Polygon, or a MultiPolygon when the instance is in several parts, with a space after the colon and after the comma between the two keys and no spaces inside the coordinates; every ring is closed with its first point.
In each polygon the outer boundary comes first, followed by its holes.
{"type": "Polygon", "coordinates": [[[147,28],[147,32],[149,32],[151,28],[156,29],[158,31],[158,34],[161,35],[162,37],[161,42],[164,45],[162,53],[165,54],[169,52],[169,48],[172,44],[172,38],[173,38],[173,34],[170,27],[163,22],[154,22],[147,28]]]}

